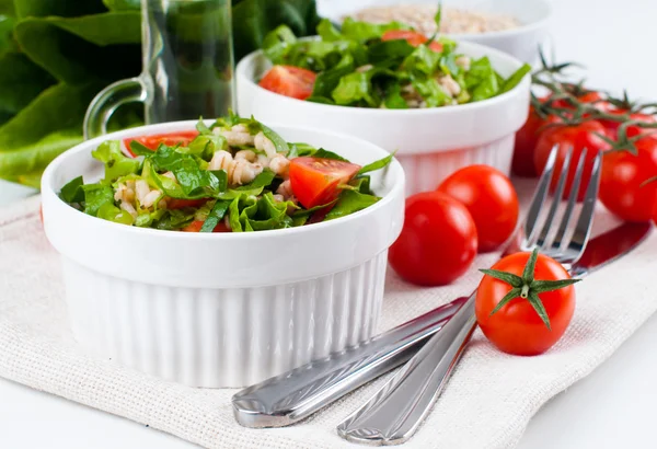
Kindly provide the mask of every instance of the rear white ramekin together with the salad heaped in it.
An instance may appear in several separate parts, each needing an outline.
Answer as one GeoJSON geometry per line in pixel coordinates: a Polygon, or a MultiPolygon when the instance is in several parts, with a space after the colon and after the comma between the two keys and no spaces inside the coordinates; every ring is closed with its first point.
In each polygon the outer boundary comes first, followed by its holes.
{"type": "Polygon", "coordinates": [[[527,120],[530,67],[494,48],[400,23],[327,21],[319,36],[279,26],[237,67],[238,111],[345,133],[396,151],[406,194],[483,163],[510,172],[527,120]]]}

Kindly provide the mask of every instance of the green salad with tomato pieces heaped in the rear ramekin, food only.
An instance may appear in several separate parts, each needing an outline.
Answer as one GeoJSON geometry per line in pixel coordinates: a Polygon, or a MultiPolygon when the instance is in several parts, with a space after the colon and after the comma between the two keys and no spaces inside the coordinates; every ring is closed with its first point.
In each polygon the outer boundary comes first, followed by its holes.
{"type": "Polygon", "coordinates": [[[286,25],[273,31],[264,51],[275,66],[260,85],[316,103],[403,110],[487,100],[514,89],[531,70],[525,65],[504,78],[488,57],[472,59],[456,42],[428,38],[399,22],[347,18],[337,30],[323,20],[318,34],[309,41],[297,39],[286,25]]]}

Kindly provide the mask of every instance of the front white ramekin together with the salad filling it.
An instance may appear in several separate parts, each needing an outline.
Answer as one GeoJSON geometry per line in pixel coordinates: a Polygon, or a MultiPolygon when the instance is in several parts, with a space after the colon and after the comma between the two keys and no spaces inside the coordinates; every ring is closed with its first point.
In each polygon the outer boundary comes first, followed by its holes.
{"type": "Polygon", "coordinates": [[[385,150],[235,115],[89,140],[48,165],[42,192],[79,343],[206,388],[371,337],[404,221],[385,150]]]}

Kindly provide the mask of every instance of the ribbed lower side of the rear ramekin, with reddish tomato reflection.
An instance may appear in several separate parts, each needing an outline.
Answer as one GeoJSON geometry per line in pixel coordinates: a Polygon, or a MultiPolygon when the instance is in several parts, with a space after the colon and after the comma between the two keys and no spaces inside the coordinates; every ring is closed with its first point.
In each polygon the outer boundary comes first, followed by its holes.
{"type": "Polygon", "coordinates": [[[423,154],[397,154],[406,173],[406,196],[434,191],[450,174],[468,165],[486,164],[511,172],[515,135],[488,145],[423,154]]]}

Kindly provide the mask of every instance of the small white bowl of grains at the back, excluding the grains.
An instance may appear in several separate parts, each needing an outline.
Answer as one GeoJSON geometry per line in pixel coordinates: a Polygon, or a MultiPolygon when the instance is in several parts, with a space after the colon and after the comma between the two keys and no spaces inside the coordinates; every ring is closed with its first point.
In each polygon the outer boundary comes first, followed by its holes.
{"type": "MultiPolygon", "coordinates": [[[[370,7],[392,7],[403,3],[401,0],[320,0],[318,9],[322,16],[335,23],[342,22],[345,15],[370,7]]],[[[436,5],[436,0],[410,0],[406,3],[436,5]]],[[[534,65],[538,61],[539,48],[550,46],[548,22],[552,15],[552,7],[546,0],[443,0],[445,8],[459,8],[476,12],[511,15],[521,23],[519,27],[500,32],[480,34],[451,34],[458,41],[469,41],[502,51],[534,65]]],[[[548,53],[549,54],[549,53],[548,53]]]]}

